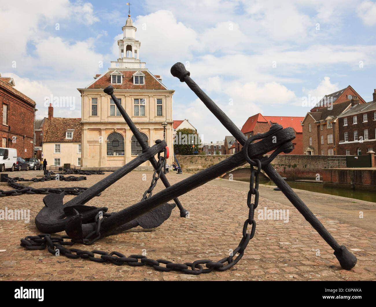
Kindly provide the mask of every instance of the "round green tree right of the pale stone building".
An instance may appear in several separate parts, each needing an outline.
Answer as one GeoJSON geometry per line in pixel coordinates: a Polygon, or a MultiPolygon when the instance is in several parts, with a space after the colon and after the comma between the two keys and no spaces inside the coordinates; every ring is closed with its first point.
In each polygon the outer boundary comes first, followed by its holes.
{"type": "Polygon", "coordinates": [[[194,151],[202,152],[200,135],[193,129],[183,128],[176,131],[173,139],[174,153],[177,155],[193,155],[194,151]],[[194,150],[192,148],[194,145],[194,150]]]}

